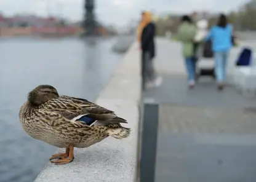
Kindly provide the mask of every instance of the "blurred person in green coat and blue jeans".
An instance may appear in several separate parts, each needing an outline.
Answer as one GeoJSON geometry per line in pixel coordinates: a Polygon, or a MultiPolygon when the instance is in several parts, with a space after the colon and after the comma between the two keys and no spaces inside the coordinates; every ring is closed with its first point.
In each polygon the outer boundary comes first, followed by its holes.
{"type": "Polygon", "coordinates": [[[196,60],[194,60],[194,37],[196,36],[196,26],[193,25],[188,15],[182,17],[182,23],[172,39],[182,42],[182,54],[185,60],[186,72],[188,74],[188,85],[194,87],[196,73],[196,60]]]}

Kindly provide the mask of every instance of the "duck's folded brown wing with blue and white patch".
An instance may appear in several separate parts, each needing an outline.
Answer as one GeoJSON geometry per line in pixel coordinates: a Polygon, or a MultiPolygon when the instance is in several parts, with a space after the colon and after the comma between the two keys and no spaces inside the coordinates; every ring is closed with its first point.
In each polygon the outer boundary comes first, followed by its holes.
{"type": "Polygon", "coordinates": [[[103,108],[83,98],[64,95],[48,101],[44,108],[57,112],[71,121],[84,120],[92,122],[94,125],[127,123],[125,119],[116,116],[114,111],[103,108]]]}

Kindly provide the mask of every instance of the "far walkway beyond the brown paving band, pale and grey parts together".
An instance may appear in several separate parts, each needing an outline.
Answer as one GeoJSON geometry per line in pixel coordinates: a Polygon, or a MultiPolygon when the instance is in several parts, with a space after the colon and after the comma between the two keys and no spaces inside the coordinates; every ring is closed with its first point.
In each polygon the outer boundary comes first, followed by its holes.
{"type": "MultiPolygon", "coordinates": [[[[244,98],[234,89],[227,87],[223,93],[216,90],[215,81],[211,77],[201,77],[194,90],[188,90],[186,72],[181,55],[181,45],[167,39],[157,39],[157,56],[154,64],[164,81],[161,87],[143,93],[145,98],[152,98],[156,102],[175,102],[192,105],[212,106],[256,106],[256,98],[244,98]]],[[[242,46],[255,47],[254,42],[241,42],[242,46]]],[[[233,48],[228,63],[228,79],[233,84],[234,62],[241,51],[241,47],[233,48]]],[[[199,66],[213,66],[213,60],[199,61],[199,66]]]]}

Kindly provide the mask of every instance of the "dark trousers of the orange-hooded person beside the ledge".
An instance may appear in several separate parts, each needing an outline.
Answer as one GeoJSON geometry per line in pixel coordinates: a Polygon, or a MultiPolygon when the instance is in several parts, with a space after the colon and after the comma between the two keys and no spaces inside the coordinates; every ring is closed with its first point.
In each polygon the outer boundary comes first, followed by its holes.
{"type": "Polygon", "coordinates": [[[145,85],[148,82],[152,82],[156,79],[156,72],[154,71],[153,59],[150,53],[142,51],[142,88],[145,89],[145,85]]]}

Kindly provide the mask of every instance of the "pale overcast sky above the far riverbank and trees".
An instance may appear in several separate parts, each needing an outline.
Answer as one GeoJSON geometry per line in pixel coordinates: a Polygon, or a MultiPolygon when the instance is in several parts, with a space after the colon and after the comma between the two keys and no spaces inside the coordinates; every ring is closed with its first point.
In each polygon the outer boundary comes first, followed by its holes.
{"type": "MultiPolygon", "coordinates": [[[[98,20],[115,25],[126,25],[131,18],[138,18],[142,10],[156,13],[211,10],[227,12],[248,0],[95,0],[98,20]]],[[[29,13],[62,15],[70,20],[81,20],[83,0],[0,0],[0,10],[5,15],[29,13]]]]}

